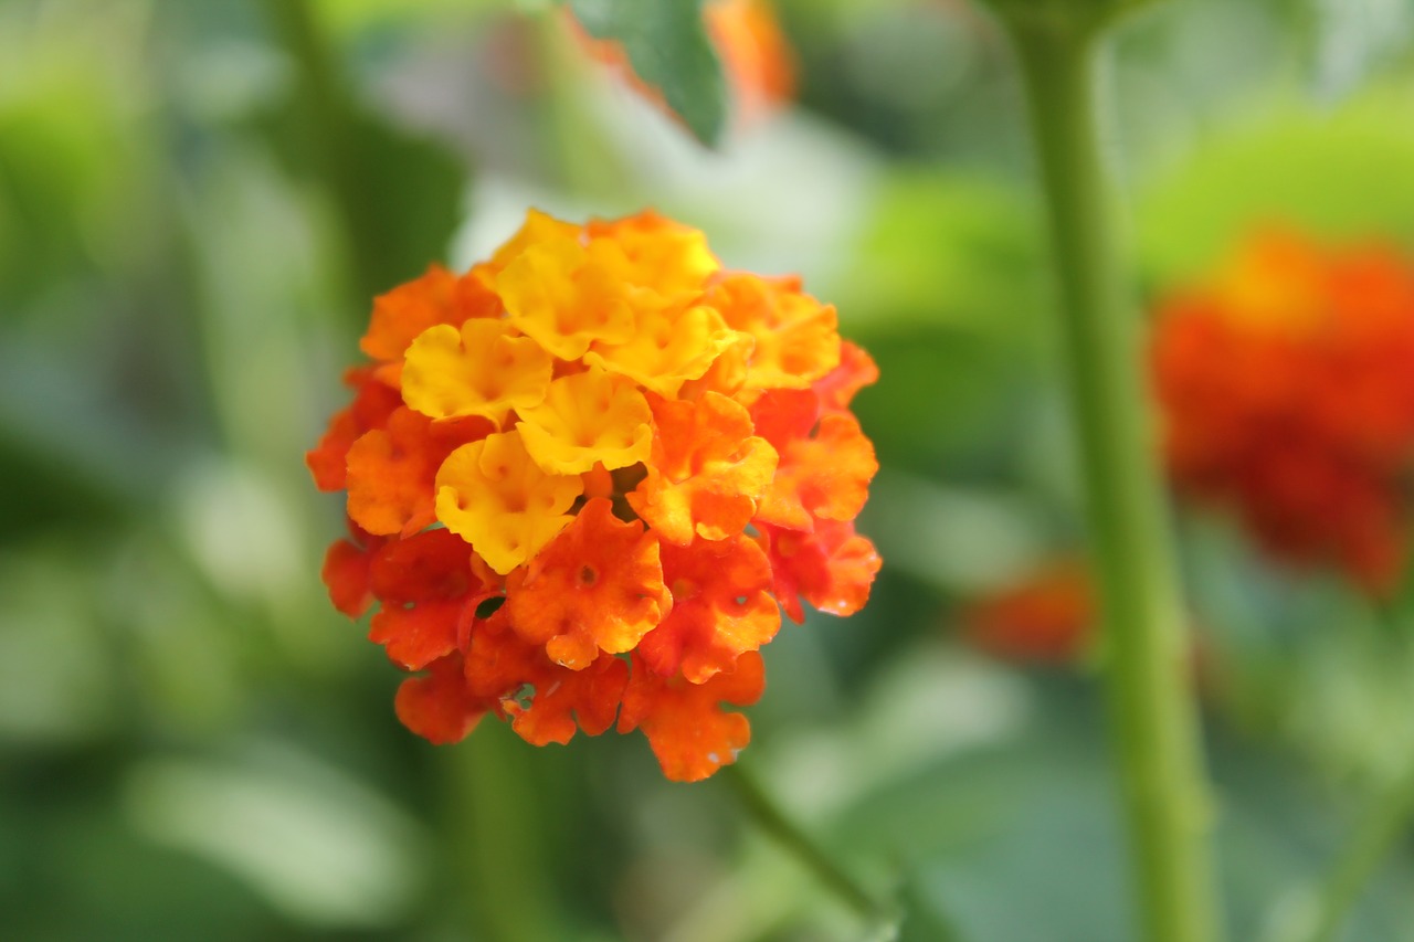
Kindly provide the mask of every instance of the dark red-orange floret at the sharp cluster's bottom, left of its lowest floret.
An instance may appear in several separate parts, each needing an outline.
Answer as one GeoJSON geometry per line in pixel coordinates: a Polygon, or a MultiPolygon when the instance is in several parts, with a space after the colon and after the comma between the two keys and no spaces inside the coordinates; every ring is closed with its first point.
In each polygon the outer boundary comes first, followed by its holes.
{"type": "Polygon", "coordinates": [[[525,741],[563,745],[575,728],[598,735],[614,726],[628,663],[597,658],[583,670],[553,663],[543,646],[520,639],[508,627],[502,607],[472,631],[467,683],[474,693],[493,699],[525,741]]]}

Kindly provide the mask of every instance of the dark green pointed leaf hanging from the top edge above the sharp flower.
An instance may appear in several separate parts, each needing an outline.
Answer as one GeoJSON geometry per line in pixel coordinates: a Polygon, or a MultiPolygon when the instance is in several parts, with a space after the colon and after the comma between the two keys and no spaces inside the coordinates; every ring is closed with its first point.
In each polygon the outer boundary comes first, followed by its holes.
{"type": "Polygon", "coordinates": [[[641,79],[708,147],[727,123],[727,86],[701,0],[568,0],[590,35],[624,45],[641,79]]]}

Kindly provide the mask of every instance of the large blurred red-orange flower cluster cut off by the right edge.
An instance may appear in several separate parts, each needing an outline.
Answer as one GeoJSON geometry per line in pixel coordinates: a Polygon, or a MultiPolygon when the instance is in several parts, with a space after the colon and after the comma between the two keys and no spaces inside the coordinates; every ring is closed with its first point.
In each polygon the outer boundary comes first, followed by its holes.
{"type": "Polygon", "coordinates": [[[1393,252],[1254,239],[1158,313],[1152,362],[1181,492],[1274,556],[1394,587],[1414,457],[1414,272],[1393,252]]]}

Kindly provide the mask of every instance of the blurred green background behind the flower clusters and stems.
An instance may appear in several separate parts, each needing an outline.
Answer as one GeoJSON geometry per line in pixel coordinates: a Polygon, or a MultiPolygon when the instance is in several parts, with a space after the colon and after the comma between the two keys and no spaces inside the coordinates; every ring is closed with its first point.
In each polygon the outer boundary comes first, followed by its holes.
{"type": "MultiPolygon", "coordinates": [[[[737,86],[711,151],[534,3],[0,0],[0,936],[860,938],[638,735],[416,738],[320,583],[303,453],[372,296],[527,207],[652,205],[882,371],[884,570],[765,651],[744,764],[918,938],[1134,938],[1005,45],[962,0],[776,11],[793,95],[737,86]]],[[[1273,221],[1414,249],[1411,35],[1401,0],[1124,30],[1147,308],[1273,221]]],[[[1414,755],[1411,620],[1178,511],[1229,922],[1280,939],[1414,755]]],[[[1414,939],[1414,842],[1345,938],[1414,939]]]]}

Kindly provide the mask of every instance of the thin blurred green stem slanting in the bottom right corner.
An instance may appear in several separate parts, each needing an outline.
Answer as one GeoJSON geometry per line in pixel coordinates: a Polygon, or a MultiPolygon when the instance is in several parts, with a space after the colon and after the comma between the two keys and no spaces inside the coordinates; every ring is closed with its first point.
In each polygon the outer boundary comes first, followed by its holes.
{"type": "Polygon", "coordinates": [[[1390,850],[1414,825],[1414,765],[1372,805],[1336,857],[1316,900],[1309,942],[1333,942],[1390,850]]]}

